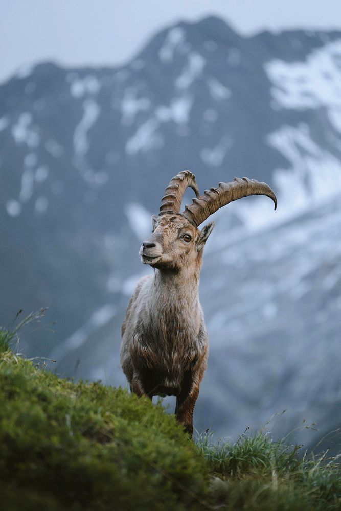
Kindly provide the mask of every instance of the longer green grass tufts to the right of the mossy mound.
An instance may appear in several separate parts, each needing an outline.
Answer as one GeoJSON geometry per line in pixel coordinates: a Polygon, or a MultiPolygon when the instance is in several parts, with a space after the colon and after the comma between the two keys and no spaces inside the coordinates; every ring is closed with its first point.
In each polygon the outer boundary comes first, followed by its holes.
{"type": "Polygon", "coordinates": [[[211,496],[223,509],[304,511],[341,509],[341,472],[328,452],[307,457],[303,446],[272,440],[261,430],[236,443],[211,443],[197,448],[210,463],[211,496]]]}

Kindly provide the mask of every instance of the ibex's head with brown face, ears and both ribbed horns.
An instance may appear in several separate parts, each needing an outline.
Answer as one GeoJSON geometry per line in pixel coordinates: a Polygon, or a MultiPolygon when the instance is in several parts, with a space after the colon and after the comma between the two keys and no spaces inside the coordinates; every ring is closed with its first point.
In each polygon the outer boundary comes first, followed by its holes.
{"type": "Polygon", "coordinates": [[[205,190],[199,196],[195,176],[188,170],[179,172],[171,179],[161,200],[158,217],[153,215],[153,233],[140,248],[141,261],[154,268],[179,270],[196,260],[201,261],[202,249],[214,222],[198,226],[220,207],[247,195],[266,195],[275,203],[275,193],[267,184],[248,179],[235,178],[231,183],[219,183],[217,188],[205,190]],[[192,188],[196,199],[180,213],[181,200],[186,188],[192,188]]]}

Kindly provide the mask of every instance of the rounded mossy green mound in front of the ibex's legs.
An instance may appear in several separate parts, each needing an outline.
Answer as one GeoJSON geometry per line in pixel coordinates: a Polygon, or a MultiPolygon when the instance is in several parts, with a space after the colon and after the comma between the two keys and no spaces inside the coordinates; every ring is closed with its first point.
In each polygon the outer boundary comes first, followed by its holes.
{"type": "Polygon", "coordinates": [[[6,509],[202,507],[207,464],[161,406],[58,379],[8,351],[0,360],[6,509]]]}

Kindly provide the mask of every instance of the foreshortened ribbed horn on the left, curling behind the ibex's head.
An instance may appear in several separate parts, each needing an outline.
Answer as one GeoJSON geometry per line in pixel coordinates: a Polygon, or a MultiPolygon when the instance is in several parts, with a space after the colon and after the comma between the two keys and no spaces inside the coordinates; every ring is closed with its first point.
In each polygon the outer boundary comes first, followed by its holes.
{"type": "Polygon", "coordinates": [[[192,188],[195,195],[199,197],[195,175],[189,170],[183,170],[170,180],[165,190],[165,195],[161,199],[159,215],[164,215],[165,213],[179,213],[181,200],[183,200],[183,195],[188,187],[192,188]]]}

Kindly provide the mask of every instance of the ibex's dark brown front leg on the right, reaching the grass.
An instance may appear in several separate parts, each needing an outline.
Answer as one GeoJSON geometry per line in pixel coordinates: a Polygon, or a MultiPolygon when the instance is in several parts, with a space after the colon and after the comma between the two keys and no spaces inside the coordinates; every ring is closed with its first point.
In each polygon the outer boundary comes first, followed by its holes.
{"type": "Polygon", "coordinates": [[[176,398],[175,415],[185,431],[193,435],[193,410],[199,395],[199,382],[195,382],[191,373],[186,373],[181,393],[176,398]]]}

